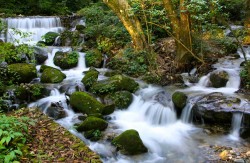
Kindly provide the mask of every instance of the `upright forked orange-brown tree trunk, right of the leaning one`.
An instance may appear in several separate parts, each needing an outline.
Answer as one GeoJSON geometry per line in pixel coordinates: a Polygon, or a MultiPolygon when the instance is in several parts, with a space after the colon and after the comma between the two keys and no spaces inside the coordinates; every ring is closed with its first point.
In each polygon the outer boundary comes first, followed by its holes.
{"type": "Polygon", "coordinates": [[[185,0],[180,0],[180,16],[174,10],[171,0],[163,0],[164,7],[171,22],[173,34],[176,39],[176,61],[180,64],[188,63],[192,52],[192,40],[190,35],[189,14],[184,6],[185,0]]]}

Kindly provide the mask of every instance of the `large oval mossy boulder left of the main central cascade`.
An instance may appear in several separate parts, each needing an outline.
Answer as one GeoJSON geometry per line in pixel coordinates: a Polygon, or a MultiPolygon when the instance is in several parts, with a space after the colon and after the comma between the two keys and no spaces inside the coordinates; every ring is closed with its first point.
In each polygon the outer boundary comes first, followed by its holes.
{"type": "Polygon", "coordinates": [[[102,113],[104,105],[86,92],[74,92],[70,96],[70,105],[83,114],[102,113]]]}

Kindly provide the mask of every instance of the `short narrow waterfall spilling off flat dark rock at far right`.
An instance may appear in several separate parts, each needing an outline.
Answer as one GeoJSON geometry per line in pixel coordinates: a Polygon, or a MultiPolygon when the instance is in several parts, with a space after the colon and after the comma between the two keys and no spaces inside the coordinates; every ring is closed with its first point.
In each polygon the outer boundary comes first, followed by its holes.
{"type": "Polygon", "coordinates": [[[233,140],[239,140],[240,128],[242,124],[243,113],[234,113],[232,118],[232,129],[229,137],[233,140]]]}

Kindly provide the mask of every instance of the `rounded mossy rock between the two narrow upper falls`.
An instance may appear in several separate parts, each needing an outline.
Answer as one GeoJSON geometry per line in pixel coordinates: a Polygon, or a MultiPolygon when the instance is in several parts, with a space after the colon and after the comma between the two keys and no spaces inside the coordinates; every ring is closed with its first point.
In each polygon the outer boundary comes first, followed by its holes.
{"type": "Polygon", "coordinates": [[[54,64],[61,69],[70,69],[77,66],[79,53],[76,51],[62,52],[58,51],[54,57],[54,64]]]}

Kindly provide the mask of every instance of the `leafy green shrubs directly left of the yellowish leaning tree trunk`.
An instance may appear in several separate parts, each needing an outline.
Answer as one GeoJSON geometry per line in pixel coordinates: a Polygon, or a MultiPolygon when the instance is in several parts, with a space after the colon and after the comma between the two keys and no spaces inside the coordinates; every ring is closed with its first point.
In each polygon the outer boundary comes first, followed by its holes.
{"type": "Polygon", "coordinates": [[[102,2],[93,3],[78,11],[86,18],[84,29],[88,48],[98,48],[104,53],[120,49],[130,42],[130,36],[119,18],[102,2]]]}

